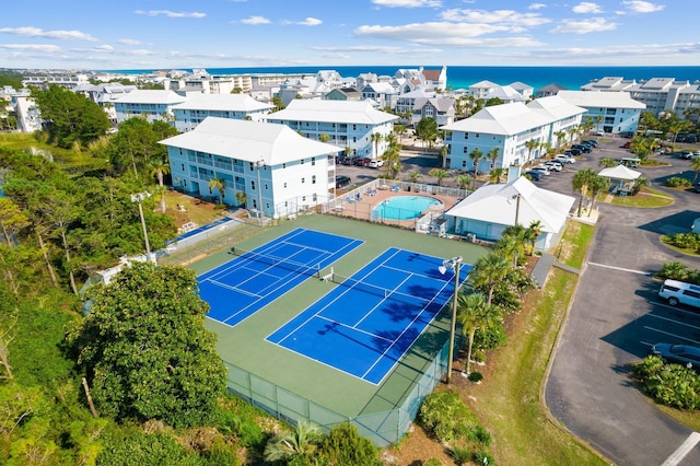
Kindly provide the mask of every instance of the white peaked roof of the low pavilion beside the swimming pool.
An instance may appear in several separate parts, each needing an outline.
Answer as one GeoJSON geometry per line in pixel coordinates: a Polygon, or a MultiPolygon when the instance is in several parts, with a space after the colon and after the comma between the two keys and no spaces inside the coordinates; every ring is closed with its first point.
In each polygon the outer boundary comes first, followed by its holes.
{"type": "Polygon", "coordinates": [[[557,233],[567,222],[575,198],[535,186],[521,176],[504,185],[486,185],[465,198],[446,214],[451,217],[512,225],[529,226],[541,222],[542,231],[557,233]],[[520,202],[518,202],[520,197],[520,202]]]}

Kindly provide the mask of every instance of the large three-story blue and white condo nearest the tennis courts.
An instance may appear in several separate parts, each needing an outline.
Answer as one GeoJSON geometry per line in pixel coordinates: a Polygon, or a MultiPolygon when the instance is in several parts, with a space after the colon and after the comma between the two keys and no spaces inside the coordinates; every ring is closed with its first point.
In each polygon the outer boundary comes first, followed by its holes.
{"type": "Polygon", "coordinates": [[[161,141],[173,185],[195,196],[287,217],[335,193],[337,147],[304,138],[284,125],[208,117],[194,130],[161,141]]]}

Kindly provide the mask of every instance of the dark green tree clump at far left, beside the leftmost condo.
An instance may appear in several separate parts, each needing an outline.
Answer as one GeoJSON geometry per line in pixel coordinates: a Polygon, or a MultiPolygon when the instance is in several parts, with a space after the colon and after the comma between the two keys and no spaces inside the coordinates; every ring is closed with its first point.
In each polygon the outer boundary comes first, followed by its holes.
{"type": "Polygon", "coordinates": [[[100,105],[72,91],[51,85],[48,91],[36,91],[34,97],[47,121],[49,141],[60,148],[75,142],[86,145],[110,126],[100,105]]]}

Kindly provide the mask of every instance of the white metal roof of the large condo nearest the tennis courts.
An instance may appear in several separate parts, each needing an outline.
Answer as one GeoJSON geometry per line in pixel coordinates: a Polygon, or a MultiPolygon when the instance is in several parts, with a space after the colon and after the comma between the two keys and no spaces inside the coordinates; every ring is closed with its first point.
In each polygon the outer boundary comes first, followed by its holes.
{"type": "Polygon", "coordinates": [[[314,141],[284,125],[207,117],[194,130],[161,144],[266,165],[338,153],[343,149],[314,141]]]}

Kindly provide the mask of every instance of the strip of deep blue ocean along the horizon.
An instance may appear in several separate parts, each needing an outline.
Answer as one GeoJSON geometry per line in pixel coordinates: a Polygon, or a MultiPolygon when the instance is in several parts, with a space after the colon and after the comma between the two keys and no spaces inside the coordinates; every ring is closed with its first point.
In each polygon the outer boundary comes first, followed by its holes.
{"type": "MultiPolygon", "coordinates": [[[[353,67],[276,67],[276,68],[206,68],[211,74],[250,74],[283,73],[315,74],[318,70],[336,70],[341,77],[358,77],[362,73],[394,75],[404,68],[417,69],[420,66],[353,66],[353,67]]],[[[423,66],[425,69],[440,69],[442,66],[423,66]]],[[[191,68],[183,68],[191,71],[191,68]]],[[[95,70],[98,71],[98,70],[95,70]]],[[[125,74],[141,74],[156,71],[143,70],[101,70],[125,74]]],[[[447,85],[453,89],[466,89],[479,81],[488,80],[499,85],[520,81],[535,90],[557,83],[565,89],[576,91],[582,85],[604,77],[621,77],[627,80],[649,80],[651,78],[675,78],[680,81],[700,84],[700,67],[451,67],[447,66],[447,85]]]]}

